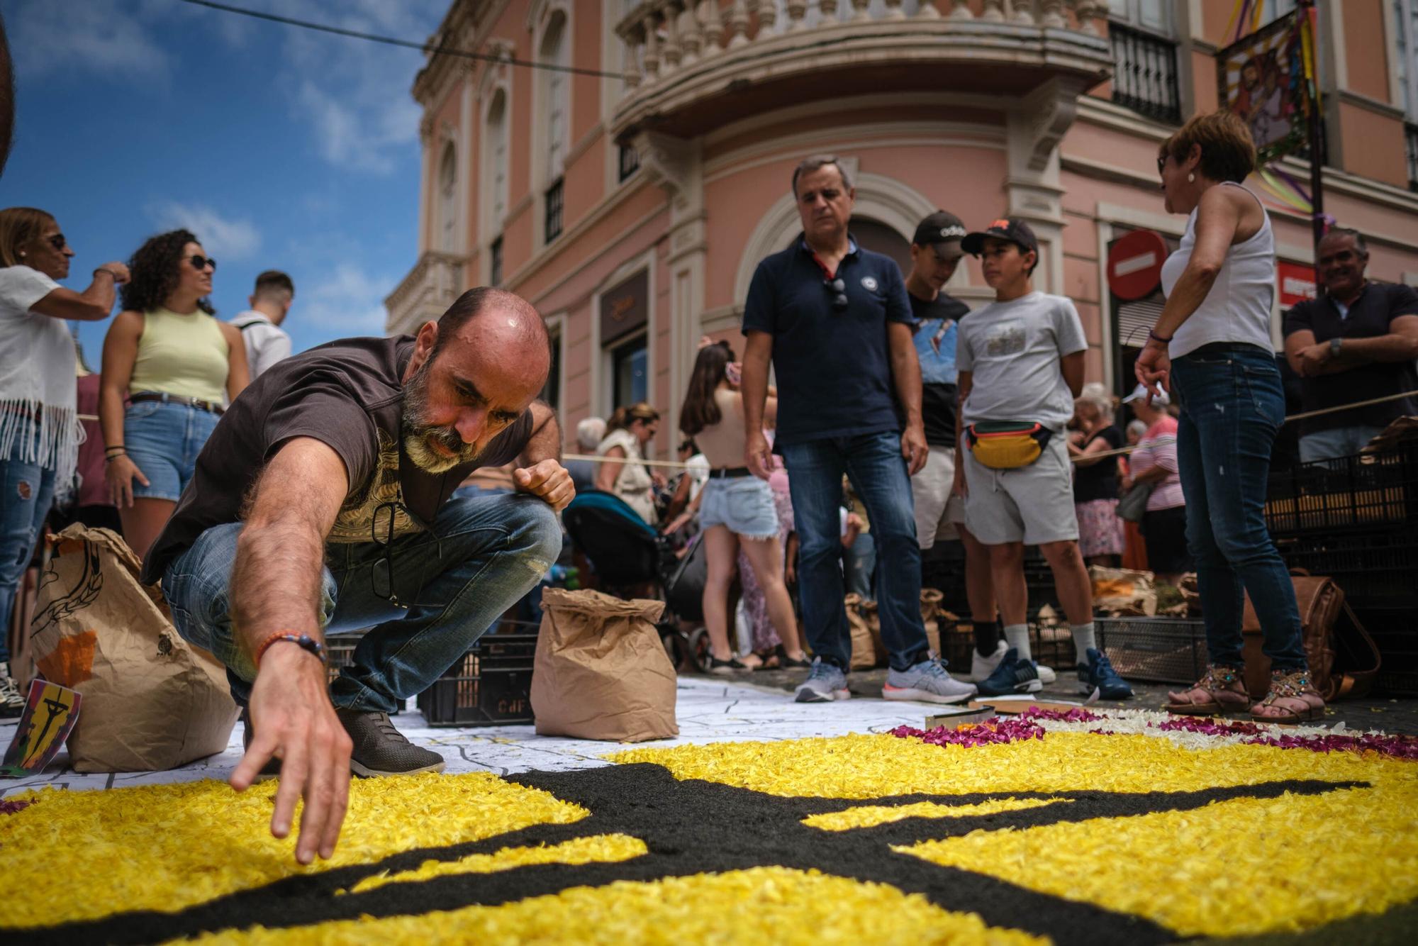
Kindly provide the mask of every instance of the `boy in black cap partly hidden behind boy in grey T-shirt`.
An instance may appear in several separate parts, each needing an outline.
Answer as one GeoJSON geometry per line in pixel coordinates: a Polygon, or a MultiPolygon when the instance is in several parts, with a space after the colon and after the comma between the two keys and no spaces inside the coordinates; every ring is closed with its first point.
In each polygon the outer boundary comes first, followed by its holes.
{"type": "Polygon", "coordinates": [[[960,217],[937,210],[916,226],[910,241],[910,274],[906,298],[915,318],[916,359],[920,362],[920,414],[930,452],[926,465],[910,478],[916,502],[916,540],[922,550],[937,540],[960,539],[966,549],[966,599],[974,621],[970,679],[980,682],[1000,665],[1005,647],[995,628],[994,584],[990,550],[968,529],[964,501],[951,491],[956,479],[956,335],[970,308],[944,292],[964,257],[960,217]]]}

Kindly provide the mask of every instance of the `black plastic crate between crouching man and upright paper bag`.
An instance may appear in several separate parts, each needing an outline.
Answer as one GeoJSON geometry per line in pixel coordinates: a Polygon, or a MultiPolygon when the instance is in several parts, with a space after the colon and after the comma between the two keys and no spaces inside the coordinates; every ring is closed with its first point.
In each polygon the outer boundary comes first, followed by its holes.
{"type": "MultiPolygon", "coordinates": [[[[503,621],[520,630],[525,624],[503,621]]],[[[499,628],[501,631],[501,628],[499,628]]],[[[418,694],[430,726],[505,726],[532,722],[536,634],[484,634],[434,685],[418,694]]]]}

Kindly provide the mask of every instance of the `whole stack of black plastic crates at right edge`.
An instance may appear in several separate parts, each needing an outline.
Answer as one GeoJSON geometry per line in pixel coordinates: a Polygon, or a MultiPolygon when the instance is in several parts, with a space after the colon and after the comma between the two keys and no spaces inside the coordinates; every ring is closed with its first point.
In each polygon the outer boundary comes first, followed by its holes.
{"type": "Polygon", "coordinates": [[[1383,655],[1375,691],[1418,695],[1418,438],[1272,474],[1265,519],[1289,567],[1344,590],[1383,655]]]}

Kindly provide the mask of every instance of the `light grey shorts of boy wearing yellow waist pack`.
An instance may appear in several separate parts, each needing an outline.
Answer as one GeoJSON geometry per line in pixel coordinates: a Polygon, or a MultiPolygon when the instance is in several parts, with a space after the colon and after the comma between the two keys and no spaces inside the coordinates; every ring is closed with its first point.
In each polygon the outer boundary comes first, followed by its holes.
{"type": "Polygon", "coordinates": [[[991,469],[961,447],[966,465],[966,528],[986,545],[1078,539],[1068,438],[1049,438],[1028,467],[991,469]]]}

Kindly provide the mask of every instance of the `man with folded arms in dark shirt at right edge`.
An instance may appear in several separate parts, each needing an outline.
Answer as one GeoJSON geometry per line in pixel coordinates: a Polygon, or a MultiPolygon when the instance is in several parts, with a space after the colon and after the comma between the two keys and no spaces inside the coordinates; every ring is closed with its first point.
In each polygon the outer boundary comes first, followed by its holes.
{"type": "MultiPolygon", "coordinates": [[[[1418,390],[1418,292],[1370,282],[1368,247],[1336,227],[1319,245],[1323,292],[1285,313],[1285,357],[1300,376],[1303,410],[1418,390]]],[[[1357,454],[1395,417],[1418,414],[1405,397],[1300,421],[1300,461],[1357,454]]]]}

